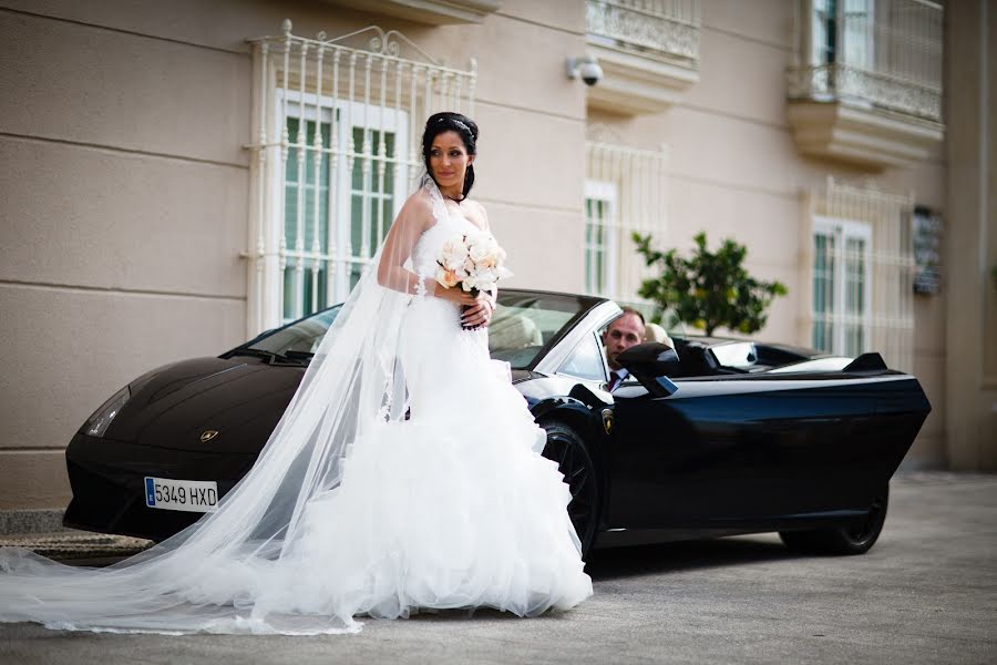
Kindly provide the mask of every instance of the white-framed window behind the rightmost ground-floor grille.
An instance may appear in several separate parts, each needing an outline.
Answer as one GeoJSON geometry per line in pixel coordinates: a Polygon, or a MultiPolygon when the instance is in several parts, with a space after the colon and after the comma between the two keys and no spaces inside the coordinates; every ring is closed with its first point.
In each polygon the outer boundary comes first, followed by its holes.
{"type": "Polygon", "coordinates": [[[870,346],[872,229],[819,217],[813,231],[814,348],[857,356],[870,346]]]}

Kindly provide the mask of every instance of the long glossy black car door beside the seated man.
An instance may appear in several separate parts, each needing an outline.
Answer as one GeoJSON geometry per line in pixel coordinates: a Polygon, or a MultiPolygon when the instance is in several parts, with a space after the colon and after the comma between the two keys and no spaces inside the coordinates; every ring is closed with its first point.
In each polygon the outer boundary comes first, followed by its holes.
{"type": "Polygon", "coordinates": [[[675,383],[666,398],[643,387],[614,393],[614,526],[757,528],[862,510],[919,427],[906,412],[877,416],[897,383],[867,377],[675,383]]]}

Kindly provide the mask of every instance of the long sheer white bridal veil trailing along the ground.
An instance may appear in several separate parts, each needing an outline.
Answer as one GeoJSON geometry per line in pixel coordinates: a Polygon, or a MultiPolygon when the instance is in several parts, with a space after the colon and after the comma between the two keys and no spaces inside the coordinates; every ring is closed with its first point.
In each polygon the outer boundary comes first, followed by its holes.
{"type": "MultiPolygon", "coordinates": [[[[439,190],[421,178],[435,221],[439,190]]],[[[424,208],[423,208],[424,209],[424,208]]],[[[0,621],[92,631],[321,633],[358,630],[350,616],[296,607],[294,576],[309,501],[339,485],[350,447],[405,418],[399,360],[402,316],[422,279],[397,269],[409,252],[391,234],[315,351],[305,377],[249,473],[194,525],[105,569],[62,565],[0,549],[0,621]]],[[[335,538],[335,534],[332,534],[335,538]]]]}

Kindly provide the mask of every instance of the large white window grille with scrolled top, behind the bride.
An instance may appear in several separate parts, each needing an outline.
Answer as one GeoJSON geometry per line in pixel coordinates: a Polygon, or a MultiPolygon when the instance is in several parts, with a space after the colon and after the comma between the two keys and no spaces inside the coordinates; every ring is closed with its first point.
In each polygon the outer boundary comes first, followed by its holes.
{"type": "Polygon", "coordinates": [[[425,119],[473,114],[476,65],[444,66],[377,27],[307,39],[285,21],[250,42],[255,335],[346,298],[422,168],[425,119]]]}

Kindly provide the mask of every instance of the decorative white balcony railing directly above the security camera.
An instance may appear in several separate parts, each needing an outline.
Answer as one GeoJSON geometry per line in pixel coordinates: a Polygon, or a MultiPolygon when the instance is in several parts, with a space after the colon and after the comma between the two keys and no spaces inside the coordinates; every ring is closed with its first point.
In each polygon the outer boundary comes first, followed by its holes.
{"type": "Polygon", "coordinates": [[[696,69],[699,0],[587,0],[586,39],[639,55],[696,69]]]}

